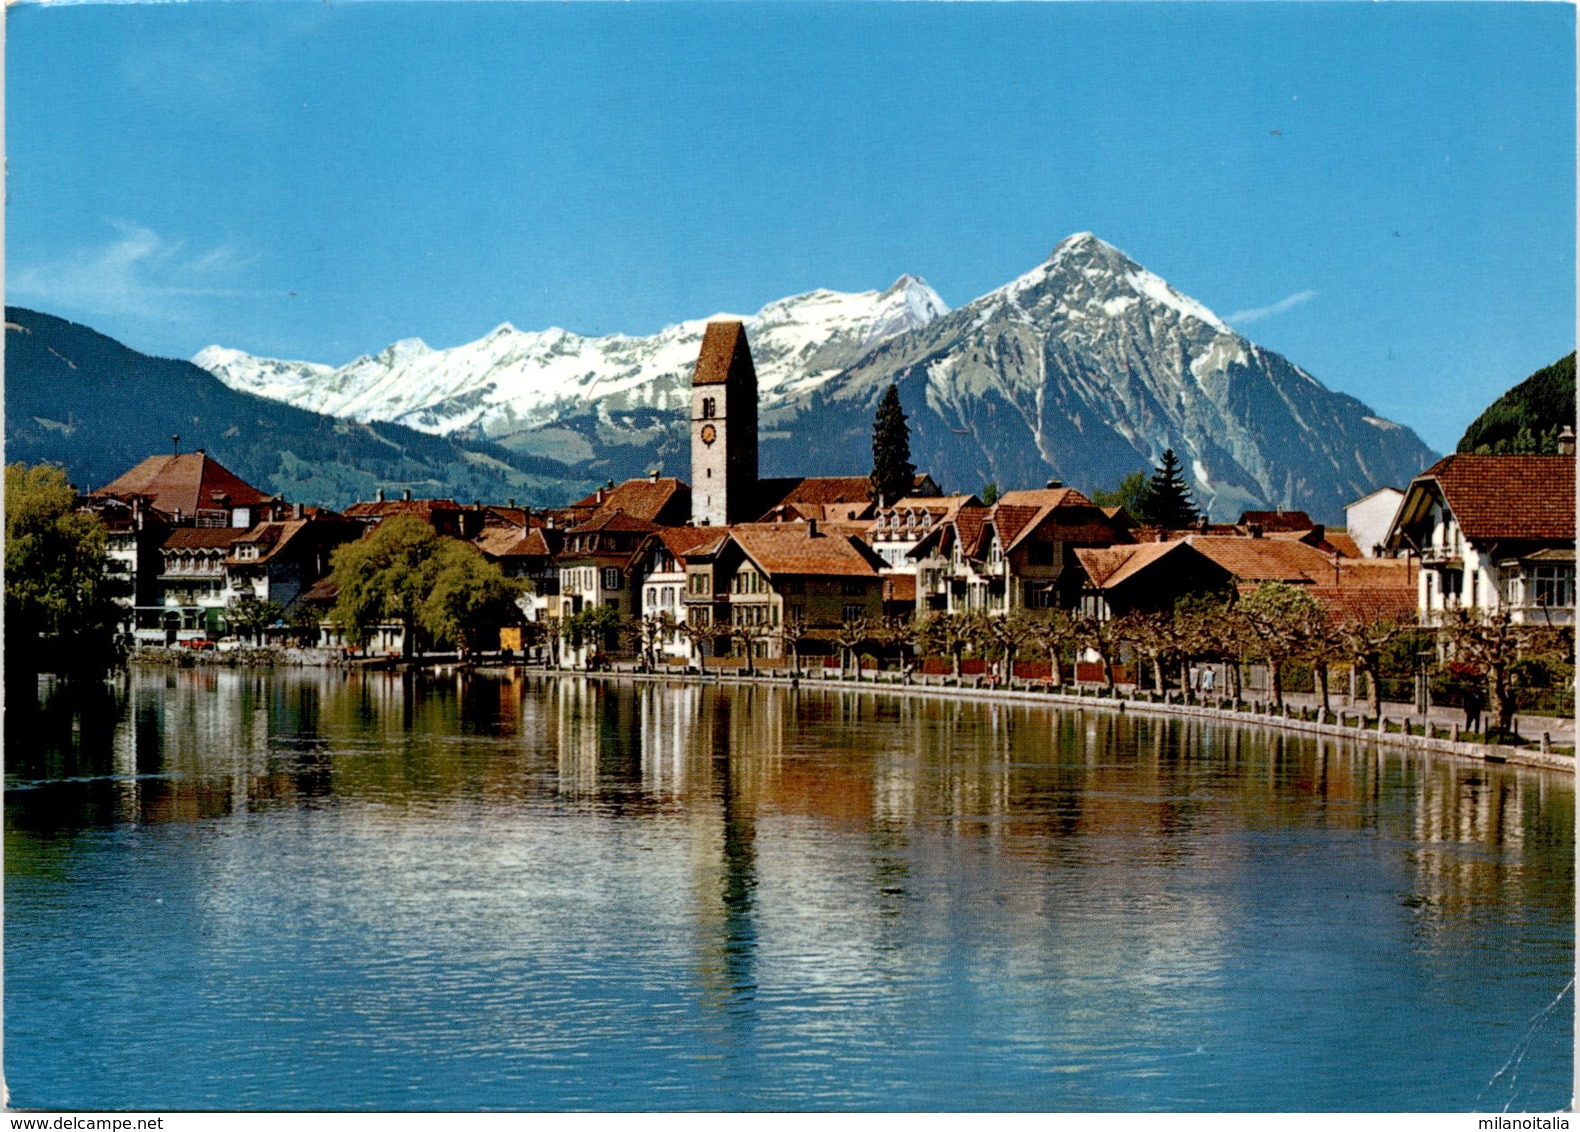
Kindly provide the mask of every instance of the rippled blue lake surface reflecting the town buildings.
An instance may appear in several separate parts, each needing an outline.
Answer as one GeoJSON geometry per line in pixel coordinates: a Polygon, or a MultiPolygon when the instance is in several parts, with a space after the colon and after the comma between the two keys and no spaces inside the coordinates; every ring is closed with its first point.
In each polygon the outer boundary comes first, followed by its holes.
{"type": "Polygon", "coordinates": [[[6,715],[17,1107],[1571,1097],[1566,775],[531,677],[144,672],[6,715]]]}

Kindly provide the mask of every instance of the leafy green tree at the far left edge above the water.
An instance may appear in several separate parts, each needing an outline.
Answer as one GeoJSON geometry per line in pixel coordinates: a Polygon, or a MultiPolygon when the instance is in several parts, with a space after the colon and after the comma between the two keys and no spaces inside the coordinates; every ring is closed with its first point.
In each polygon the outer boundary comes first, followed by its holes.
{"type": "Polygon", "coordinates": [[[101,675],[125,659],[104,523],[76,506],[62,468],[6,465],[6,677],[28,697],[38,672],[101,675]]]}

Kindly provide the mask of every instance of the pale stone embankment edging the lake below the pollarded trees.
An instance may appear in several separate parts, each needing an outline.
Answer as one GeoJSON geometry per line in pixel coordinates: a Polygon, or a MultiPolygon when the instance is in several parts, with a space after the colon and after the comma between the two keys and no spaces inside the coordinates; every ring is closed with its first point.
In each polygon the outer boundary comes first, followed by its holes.
{"type": "MultiPolygon", "coordinates": [[[[1106,688],[1076,686],[1074,692],[1055,689],[1052,686],[1022,688],[988,688],[973,686],[965,677],[953,683],[951,677],[904,677],[882,674],[872,680],[852,680],[848,677],[830,675],[828,669],[814,669],[801,677],[781,675],[725,675],[720,672],[686,674],[686,672],[640,672],[634,669],[611,669],[604,672],[578,672],[570,669],[529,669],[551,677],[577,677],[586,680],[635,680],[657,683],[705,683],[705,685],[774,685],[774,686],[811,686],[830,691],[880,692],[890,696],[931,696],[942,699],[969,699],[975,702],[994,704],[1043,704],[1066,708],[1092,708],[1098,711],[1136,713],[1136,715],[1168,715],[1193,719],[1207,719],[1251,727],[1273,727],[1278,730],[1300,732],[1307,735],[1327,735],[1348,738],[1362,743],[1446,754],[1471,762],[1496,762],[1520,767],[1540,767],[1574,773],[1574,753],[1548,749],[1506,746],[1496,743],[1473,743],[1458,738],[1457,729],[1444,726],[1441,721],[1403,711],[1390,715],[1384,704],[1379,718],[1370,718],[1364,711],[1341,710],[1327,711],[1326,718],[1318,718],[1319,710],[1313,705],[1296,707],[1288,704],[1277,708],[1272,704],[1243,704],[1239,710],[1232,707],[1209,707],[1204,704],[1185,704],[1177,694],[1158,696],[1157,692],[1115,692],[1108,694],[1106,688]]],[[[1401,707],[1401,705],[1400,705],[1401,707]]],[[[1567,721],[1553,721],[1567,723],[1567,721]]],[[[1552,730],[1545,732],[1548,737],[1552,730]]]]}

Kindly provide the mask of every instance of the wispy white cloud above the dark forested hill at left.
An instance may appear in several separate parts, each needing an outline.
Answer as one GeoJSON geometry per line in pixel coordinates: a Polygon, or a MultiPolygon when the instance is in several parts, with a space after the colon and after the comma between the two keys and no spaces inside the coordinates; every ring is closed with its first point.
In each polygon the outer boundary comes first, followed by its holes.
{"type": "Polygon", "coordinates": [[[111,221],[109,245],[73,251],[47,264],[24,264],[6,283],[9,297],[40,307],[114,310],[139,318],[188,319],[201,299],[262,292],[228,286],[250,262],[234,247],[188,250],[152,228],[111,221]]]}

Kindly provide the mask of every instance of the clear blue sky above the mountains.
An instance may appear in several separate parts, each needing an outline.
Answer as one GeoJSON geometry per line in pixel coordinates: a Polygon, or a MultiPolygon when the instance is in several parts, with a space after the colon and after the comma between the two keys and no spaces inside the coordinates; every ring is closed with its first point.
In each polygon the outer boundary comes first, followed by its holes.
{"type": "Polygon", "coordinates": [[[8,302],[341,364],[1093,231],[1449,449],[1574,349],[1564,3],[17,5],[8,302]]]}

